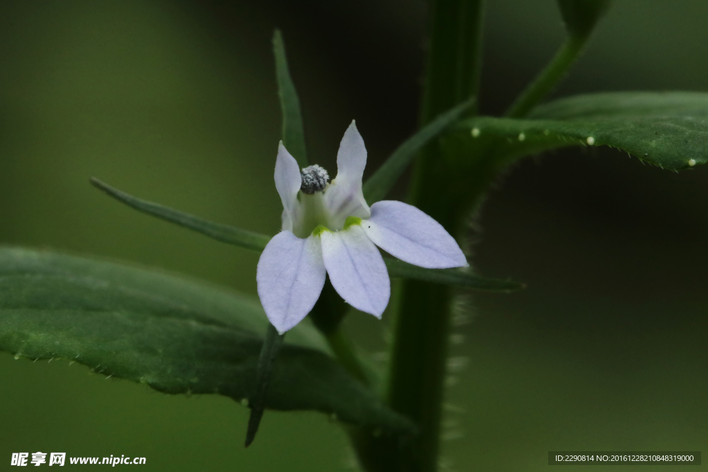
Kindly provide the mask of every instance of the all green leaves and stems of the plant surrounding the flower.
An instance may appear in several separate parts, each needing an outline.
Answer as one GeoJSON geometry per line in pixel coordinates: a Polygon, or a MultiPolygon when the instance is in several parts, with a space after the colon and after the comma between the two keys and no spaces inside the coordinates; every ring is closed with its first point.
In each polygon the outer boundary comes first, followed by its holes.
{"type": "MultiPolygon", "coordinates": [[[[522,156],[563,146],[608,145],[675,171],[706,163],[706,93],[600,93],[537,106],[563,79],[610,6],[610,0],[558,2],[569,38],[504,118],[472,116],[484,2],[431,3],[421,110],[427,125],[364,185],[370,204],[387,194],[418,154],[410,201],[455,235],[499,171],[522,156]],[[465,114],[472,117],[435,139],[465,114]]],[[[299,98],[278,30],[273,52],[282,141],[304,167],[299,98]]],[[[91,183],[125,205],[218,241],[253,251],[263,251],[270,241],[268,235],[140,200],[96,179],[91,183]]],[[[329,283],[311,319],[330,350],[304,323],[290,331],[283,345],[251,297],[138,267],[0,248],[0,350],[18,359],[69,359],[165,393],[229,396],[251,406],[246,445],[258,430],[263,408],[336,415],[362,427],[350,432],[358,437],[355,446],[367,470],[435,471],[453,306],[453,291],[445,285],[509,292],[523,284],[466,270],[428,270],[392,258],[385,263],[391,277],[411,280],[403,284],[395,314],[385,392],[389,406],[375,388],[367,388],[366,366],[338,330],[345,304],[329,283]],[[334,303],[328,297],[336,297],[334,303]],[[416,431],[411,420],[421,434],[405,437],[416,431]],[[395,434],[371,434],[379,430],[395,434]]]]}

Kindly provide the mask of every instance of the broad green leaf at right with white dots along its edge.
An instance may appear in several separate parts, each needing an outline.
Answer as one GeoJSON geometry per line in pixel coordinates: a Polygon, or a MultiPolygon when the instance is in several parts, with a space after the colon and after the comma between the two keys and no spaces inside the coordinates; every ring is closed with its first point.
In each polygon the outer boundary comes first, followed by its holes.
{"type": "Polygon", "coordinates": [[[473,152],[490,153],[496,159],[604,144],[678,171],[707,161],[708,93],[574,96],[541,105],[525,120],[479,117],[466,120],[459,129],[473,152]]]}

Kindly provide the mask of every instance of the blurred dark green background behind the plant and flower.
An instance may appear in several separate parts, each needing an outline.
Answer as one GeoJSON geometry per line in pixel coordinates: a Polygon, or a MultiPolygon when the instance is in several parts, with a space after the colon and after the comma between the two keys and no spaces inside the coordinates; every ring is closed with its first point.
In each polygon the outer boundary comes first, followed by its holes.
{"type": "MultiPolygon", "coordinates": [[[[707,21],[700,0],[617,0],[556,96],[708,91],[707,21]]],[[[416,127],[425,24],[422,1],[1,2],[0,243],[255,294],[257,255],[122,207],[89,177],[273,234],[273,28],[311,159],[333,171],[355,118],[370,172],[416,127]]],[[[491,0],[485,35],[481,108],[500,113],[564,30],[552,0],[491,0]]],[[[456,318],[444,469],[542,470],[549,450],[708,451],[707,184],[706,168],[669,173],[610,149],[527,159],[499,181],[470,234],[476,265],[528,288],[475,294],[456,318]]],[[[347,323],[382,350],[373,318],[347,323]]],[[[268,413],[246,450],[247,410],[227,398],[6,353],[0,376],[1,470],[17,451],[145,456],[146,471],[353,468],[323,415],[268,413]]]]}

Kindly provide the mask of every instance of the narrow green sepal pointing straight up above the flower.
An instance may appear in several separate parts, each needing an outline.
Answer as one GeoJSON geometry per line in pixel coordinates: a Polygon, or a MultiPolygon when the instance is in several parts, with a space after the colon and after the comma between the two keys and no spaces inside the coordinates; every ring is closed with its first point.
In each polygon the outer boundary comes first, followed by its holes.
{"type": "Polygon", "coordinates": [[[297,98],[297,90],[292,83],[290,70],[287,68],[285,43],[282,41],[280,30],[275,30],[273,33],[273,54],[275,54],[275,79],[278,81],[278,96],[280,110],[282,110],[282,144],[295,157],[300,168],[304,168],[307,167],[307,152],[300,100],[297,98]]]}

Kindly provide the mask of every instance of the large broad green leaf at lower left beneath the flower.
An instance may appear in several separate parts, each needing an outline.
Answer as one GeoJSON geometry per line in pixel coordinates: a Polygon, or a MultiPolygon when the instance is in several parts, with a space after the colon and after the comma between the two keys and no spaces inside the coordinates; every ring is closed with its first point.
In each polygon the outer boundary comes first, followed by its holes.
{"type": "MultiPolygon", "coordinates": [[[[253,398],[266,323],[257,300],[224,289],[128,265],[0,248],[0,350],[18,359],[68,359],[165,393],[243,401],[253,398]]],[[[411,430],[331,357],[303,347],[315,345],[312,339],[302,323],[290,331],[266,407],[411,430]]]]}

